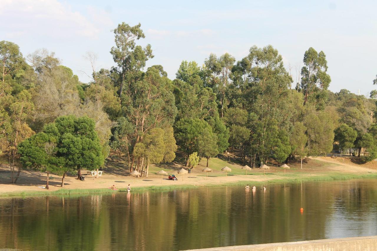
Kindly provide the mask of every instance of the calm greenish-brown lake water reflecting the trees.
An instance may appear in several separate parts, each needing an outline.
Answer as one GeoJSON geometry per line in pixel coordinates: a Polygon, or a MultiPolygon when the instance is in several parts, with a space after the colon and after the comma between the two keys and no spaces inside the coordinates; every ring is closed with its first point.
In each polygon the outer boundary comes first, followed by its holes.
{"type": "Polygon", "coordinates": [[[0,199],[0,248],[185,250],[377,235],[376,199],[377,180],[0,199]]]}

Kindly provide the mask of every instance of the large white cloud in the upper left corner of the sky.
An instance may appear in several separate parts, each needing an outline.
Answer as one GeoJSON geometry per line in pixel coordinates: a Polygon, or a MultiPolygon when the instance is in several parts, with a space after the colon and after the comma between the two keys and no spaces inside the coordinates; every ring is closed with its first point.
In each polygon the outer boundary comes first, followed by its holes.
{"type": "MultiPolygon", "coordinates": [[[[88,8],[87,12],[89,15],[98,13],[93,8],[88,8]]],[[[105,25],[109,24],[106,12],[100,14],[101,22],[104,20],[105,25]]],[[[32,33],[54,38],[96,39],[101,30],[98,23],[90,21],[80,12],[73,11],[70,5],[57,0],[3,0],[0,20],[7,24],[3,28],[8,38],[21,35],[25,37],[26,33],[32,33]]]]}

